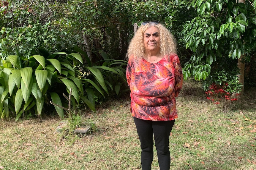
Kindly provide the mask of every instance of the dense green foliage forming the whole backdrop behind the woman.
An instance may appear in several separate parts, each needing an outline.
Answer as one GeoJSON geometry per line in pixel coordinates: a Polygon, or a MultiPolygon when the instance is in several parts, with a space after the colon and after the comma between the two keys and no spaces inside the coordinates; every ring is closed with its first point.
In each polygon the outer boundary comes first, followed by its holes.
{"type": "Polygon", "coordinates": [[[236,0],[1,1],[0,116],[41,115],[50,100],[65,106],[62,93],[70,88],[73,107],[92,111],[123,96],[134,24],[151,20],[175,35],[185,80],[205,80],[204,90],[228,83],[237,93],[237,59],[255,59],[255,6],[236,0]]]}

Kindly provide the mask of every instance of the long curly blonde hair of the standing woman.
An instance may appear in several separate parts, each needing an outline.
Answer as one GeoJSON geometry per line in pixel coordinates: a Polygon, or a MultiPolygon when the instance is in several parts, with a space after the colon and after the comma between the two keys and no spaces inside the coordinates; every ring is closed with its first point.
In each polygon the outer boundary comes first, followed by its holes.
{"type": "Polygon", "coordinates": [[[143,58],[145,55],[143,34],[151,26],[157,27],[160,31],[160,53],[162,55],[176,54],[176,41],[170,31],[160,23],[154,24],[153,22],[149,22],[146,25],[141,25],[138,28],[137,33],[132,38],[126,54],[127,60],[132,55],[136,60],[143,58]]]}

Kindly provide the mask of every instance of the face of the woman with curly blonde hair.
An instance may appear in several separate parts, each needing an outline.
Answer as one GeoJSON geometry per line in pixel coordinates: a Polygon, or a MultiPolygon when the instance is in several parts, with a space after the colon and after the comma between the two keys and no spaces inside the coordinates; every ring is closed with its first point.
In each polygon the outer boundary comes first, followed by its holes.
{"type": "Polygon", "coordinates": [[[143,41],[146,52],[160,50],[160,31],[157,27],[149,27],[143,34],[143,41]]]}

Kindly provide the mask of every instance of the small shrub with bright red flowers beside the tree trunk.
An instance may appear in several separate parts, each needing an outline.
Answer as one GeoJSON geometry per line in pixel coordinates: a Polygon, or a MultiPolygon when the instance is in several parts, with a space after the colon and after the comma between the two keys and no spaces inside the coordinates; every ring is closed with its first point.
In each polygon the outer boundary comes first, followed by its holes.
{"type": "MultiPolygon", "coordinates": [[[[232,94],[228,92],[228,87],[228,83],[223,85],[216,85],[215,83],[212,83],[205,92],[206,95],[208,95],[206,98],[211,100],[214,104],[220,104],[224,112],[227,111],[227,106],[230,101],[237,100],[237,98],[231,98],[232,94]]],[[[237,93],[237,95],[239,95],[239,93],[237,93]]]]}

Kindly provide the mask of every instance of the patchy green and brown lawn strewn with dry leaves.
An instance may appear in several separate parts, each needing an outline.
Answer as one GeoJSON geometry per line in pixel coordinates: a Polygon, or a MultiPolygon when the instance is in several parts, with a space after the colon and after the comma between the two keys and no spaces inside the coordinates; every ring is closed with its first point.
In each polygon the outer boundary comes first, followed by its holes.
{"type": "MultiPolygon", "coordinates": [[[[256,170],[256,90],[245,92],[227,113],[208,101],[195,82],[177,98],[178,119],[170,137],[175,170],[256,170]],[[189,147],[187,147],[187,146],[189,147]]],[[[56,132],[61,119],[0,120],[0,169],[138,170],[140,143],[129,99],[109,101],[97,113],[84,111],[98,132],[70,144],[56,132]]],[[[156,150],[152,170],[158,170],[156,150]]]]}

